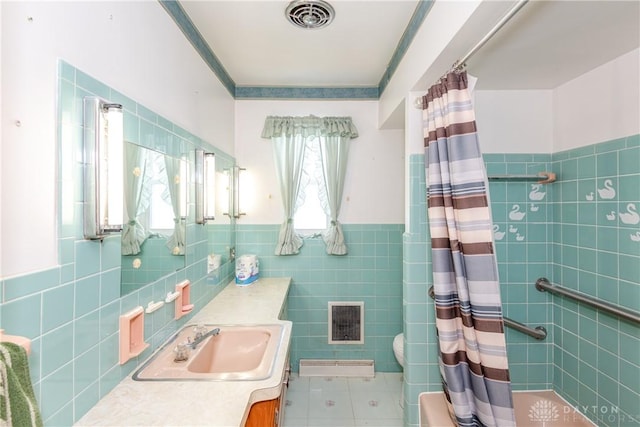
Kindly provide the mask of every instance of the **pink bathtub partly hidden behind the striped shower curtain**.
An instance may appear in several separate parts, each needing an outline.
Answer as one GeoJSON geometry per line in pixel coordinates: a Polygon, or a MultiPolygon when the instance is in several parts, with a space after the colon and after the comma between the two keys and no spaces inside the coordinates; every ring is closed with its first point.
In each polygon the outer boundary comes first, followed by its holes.
{"type": "MultiPolygon", "coordinates": [[[[455,427],[449,418],[444,393],[421,393],[419,404],[420,427],[455,427]]],[[[513,406],[518,427],[596,426],[551,390],[514,391],[513,406]]]]}

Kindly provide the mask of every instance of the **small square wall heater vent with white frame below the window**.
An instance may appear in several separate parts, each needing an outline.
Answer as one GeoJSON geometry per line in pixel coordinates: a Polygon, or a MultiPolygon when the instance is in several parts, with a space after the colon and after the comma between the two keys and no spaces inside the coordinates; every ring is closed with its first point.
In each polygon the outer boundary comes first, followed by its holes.
{"type": "Polygon", "coordinates": [[[329,301],[329,344],[364,344],[364,302],[329,301]]]}

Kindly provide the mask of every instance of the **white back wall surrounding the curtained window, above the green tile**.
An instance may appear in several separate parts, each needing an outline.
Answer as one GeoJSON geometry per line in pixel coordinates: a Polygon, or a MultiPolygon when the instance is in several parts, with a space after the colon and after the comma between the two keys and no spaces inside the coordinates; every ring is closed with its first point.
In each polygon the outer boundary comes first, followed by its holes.
{"type": "MultiPolygon", "coordinates": [[[[278,116],[351,116],[359,137],[351,140],[340,222],[404,223],[404,132],[379,130],[377,101],[237,101],[236,160],[252,181],[245,224],[280,224],[282,199],[271,144],[260,138],[264,120],[278,116]]],[[[244,192],[244,191],[243,191],[244,192]]]]}

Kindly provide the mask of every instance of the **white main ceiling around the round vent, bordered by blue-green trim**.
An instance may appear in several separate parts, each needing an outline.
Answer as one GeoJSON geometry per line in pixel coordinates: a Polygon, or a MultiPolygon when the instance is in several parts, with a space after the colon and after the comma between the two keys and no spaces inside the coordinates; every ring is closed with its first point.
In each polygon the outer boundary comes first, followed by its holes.
{"type": "Polygon", "coordinates": [[[330,0],[328,27],[285,18],[289,1],[181,1],[238,86],[378,86],[417,0],[330,0]]]}

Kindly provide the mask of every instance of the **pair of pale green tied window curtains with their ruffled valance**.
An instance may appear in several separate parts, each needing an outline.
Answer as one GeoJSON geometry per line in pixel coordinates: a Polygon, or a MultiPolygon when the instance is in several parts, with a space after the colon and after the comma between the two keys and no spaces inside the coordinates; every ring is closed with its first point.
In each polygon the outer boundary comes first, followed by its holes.
{"type": "MultiPolygon", "coordinates": [[[[324,233],[327,253],[344,255],[347,253],[344,236],[337,217],[342,199],[342,187],[346,168],[347,141],[356,138],[356,130],[350,117],[277,117],[269,116],[262,131],[263,138],[269,138],[273,144],[276,173],[280,183],[285,220],[280,227],[276,255],[297,254],[302,247],[302,239],[295,232],[293,216],[299,202],[301,177],[307,141],[318,138],[325,146],[321,158],[324,178],[320,187],[325,187],[323,203],[327,215],[331,217],[331,226],[324,233]],[[337,138],[339,142],[334,140],[337,138]],[[327,142],[329,141],[329,142],[327,142]]],[[[322,193],[322,191],[321,191],[322,193]]],[[[322,195],[320,196],[322,198],[322,195]]]]}

